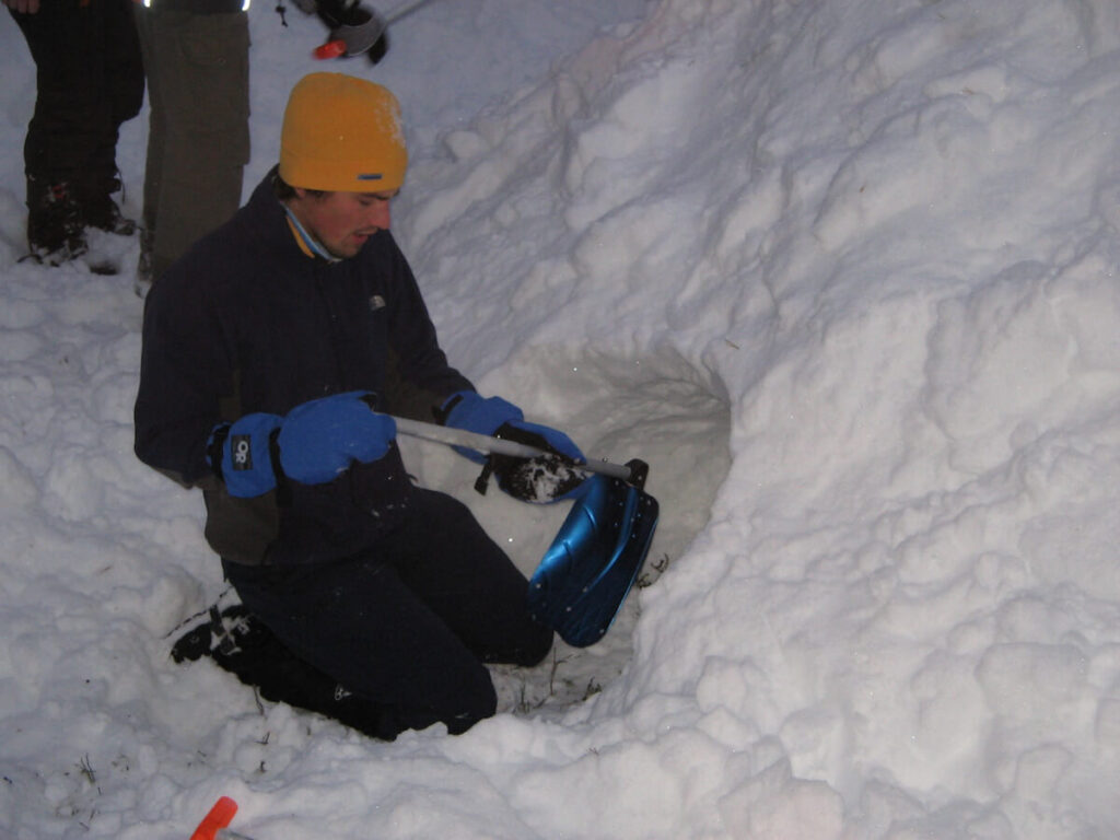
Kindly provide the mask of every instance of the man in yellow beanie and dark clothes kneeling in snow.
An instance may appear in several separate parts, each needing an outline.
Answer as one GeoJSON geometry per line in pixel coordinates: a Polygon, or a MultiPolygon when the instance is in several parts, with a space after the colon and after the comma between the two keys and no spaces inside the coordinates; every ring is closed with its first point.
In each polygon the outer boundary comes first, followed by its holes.
{"type": "MultiPolygon", "coordinates": [[[[535,664],[552,632],[468,510],[413,486],[395,422],[374,412],[582,459],[448,365],[389,232],[405,166],[389,91],[301,80],[279,166],[149,293],[136,404],[137,455],[202,487],[209,544],[289,657],[265,697],[314,706],[284,685],[338,684],[360,712],[317,710],[382,738],[493,715],[483,663],[535,664]]],[[[263,685],[261,664],[242,678],[263,685]]]]}

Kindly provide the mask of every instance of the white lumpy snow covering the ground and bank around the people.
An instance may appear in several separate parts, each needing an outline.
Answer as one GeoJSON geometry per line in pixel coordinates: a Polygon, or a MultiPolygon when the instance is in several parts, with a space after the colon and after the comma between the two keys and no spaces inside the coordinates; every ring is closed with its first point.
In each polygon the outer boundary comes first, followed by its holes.
{"type": "MultiPolygon", "coordinates": [[[[287,20],[251,11],[246,195],[321,68],[287,20]]],[[[391,35],[332,68],[402,100],[441,340],[651,464],[657,568],[460,737],[174,665],[230,594],[131,454],[131,278],[18,262],[0,16],[0,836],[186,838],[222,794],[258,840],[1120,836],[1117,3],[445,0],[391,35]]],[[[560,506],[409,447],[533,568],[560,506]]]]}

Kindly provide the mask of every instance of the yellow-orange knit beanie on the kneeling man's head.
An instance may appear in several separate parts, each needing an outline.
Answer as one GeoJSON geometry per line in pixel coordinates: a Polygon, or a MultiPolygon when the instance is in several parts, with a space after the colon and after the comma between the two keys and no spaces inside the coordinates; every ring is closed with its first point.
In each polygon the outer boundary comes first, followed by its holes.
{"type": "Polygon", "coordinates": [[[290,186],[390,192],[403,184],[408,162],[401,106],[388,90],[342,73],[296,83],[280,131],[280,177],[290,186]]]}

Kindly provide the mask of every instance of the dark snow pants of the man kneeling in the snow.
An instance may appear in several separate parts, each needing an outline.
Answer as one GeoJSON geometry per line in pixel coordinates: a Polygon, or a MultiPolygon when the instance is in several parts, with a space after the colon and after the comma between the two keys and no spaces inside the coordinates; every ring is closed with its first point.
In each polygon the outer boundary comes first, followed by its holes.
{"type": "Polygon", "coordinates": [[[225,562],[242,603],[297,657],[376,709],[392,739],[442,721],[467,730],[495,711],[483,663],[534,665],[551,629],[528,612],[528,581],[463,503],[416,489],[410,515],[373,549],[306,566],[225,562]]]}

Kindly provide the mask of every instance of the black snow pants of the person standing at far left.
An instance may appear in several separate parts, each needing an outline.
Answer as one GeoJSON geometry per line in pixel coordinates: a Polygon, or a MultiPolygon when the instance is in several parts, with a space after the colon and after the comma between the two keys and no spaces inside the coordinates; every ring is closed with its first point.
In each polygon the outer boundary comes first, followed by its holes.
{"type": "MultiPolygon", "coordinates": [[[[36,66],[37,97],[24,143],[31,184],[68,183],[82,206],[120,184],[118,133],[143,104],[143,63],[132,0],[40,0],[15,10],[36,66]]],[[[28,196],[29,206],[36,196],[28,196]]]]}

